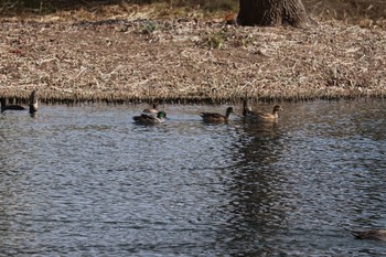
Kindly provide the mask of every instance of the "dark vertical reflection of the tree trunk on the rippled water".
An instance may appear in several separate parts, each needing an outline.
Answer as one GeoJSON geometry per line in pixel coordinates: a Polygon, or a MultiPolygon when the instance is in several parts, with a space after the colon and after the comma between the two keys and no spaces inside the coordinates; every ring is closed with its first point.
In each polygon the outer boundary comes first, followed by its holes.
{"type": "Polygon", "coordinates": [[[280,122],[243,120],[242,147],[237,152],[243,158],[233,173],[230,204],[235,219],[232,224],[243,224],[246,229],[240,239],[244,244],[245,238],[251,240],[247,244],[255,245],[287,229],[288,212],[293,207],[287,202],[289,183],[278,164],[283,150],[281,133],[280,122]]]}

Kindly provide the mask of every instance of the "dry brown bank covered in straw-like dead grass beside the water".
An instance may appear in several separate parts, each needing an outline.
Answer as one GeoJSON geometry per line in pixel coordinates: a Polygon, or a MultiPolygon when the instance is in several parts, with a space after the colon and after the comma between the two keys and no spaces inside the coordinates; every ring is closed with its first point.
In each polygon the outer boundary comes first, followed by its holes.
{"type": "MultiPolygon", "coordinates": [[[[90,14],[92,15],[92,14],[90,14]]],[[[386,26],[242,28],[147,13],[0,20],[0,96],[237,101],[386,96],[386,26]]]]}

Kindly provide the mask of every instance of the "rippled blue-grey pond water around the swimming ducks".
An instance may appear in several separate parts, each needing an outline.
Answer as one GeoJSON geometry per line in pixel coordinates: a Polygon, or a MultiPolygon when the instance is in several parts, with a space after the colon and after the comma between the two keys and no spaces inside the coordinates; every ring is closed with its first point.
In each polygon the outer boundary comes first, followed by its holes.
{"type": "MultiPolygon", "coordinates": [[[[271,104],[256,108],[270,110],[271,104]]],[[[0,256],[382,256],[386,103],[283,103],[276,125],[165,105],[0,115],[0,256]]]]}

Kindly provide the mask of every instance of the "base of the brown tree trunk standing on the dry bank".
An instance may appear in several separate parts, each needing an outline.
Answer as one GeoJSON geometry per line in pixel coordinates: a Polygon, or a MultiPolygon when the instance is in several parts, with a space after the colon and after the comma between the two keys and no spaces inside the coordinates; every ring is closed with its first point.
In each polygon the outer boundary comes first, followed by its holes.
{"type": "Polygon", "coordinates": [[[237,23],[240,25],[303,28],[311,22],[301,0],[239,0],[237,23]]]}

